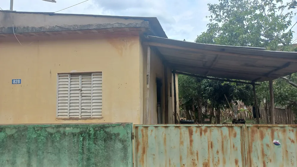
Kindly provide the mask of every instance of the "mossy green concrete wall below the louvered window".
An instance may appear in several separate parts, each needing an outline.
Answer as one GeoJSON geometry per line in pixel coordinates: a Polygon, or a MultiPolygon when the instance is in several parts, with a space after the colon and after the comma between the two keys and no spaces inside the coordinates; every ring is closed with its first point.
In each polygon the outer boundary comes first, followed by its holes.
{"type": "Polygon", "coordinates": [[[0,125],[2,167],[131,167],[132,123],[0,125]]]}

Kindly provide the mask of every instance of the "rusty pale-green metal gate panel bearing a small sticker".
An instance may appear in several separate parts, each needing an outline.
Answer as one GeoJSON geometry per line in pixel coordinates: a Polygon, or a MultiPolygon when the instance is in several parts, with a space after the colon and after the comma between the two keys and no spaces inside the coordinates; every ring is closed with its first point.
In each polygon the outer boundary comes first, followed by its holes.
{"type": "Polygon", "coordinates": [[[247,136],[249,166],[297,166],[296,125],[247,125],[247,136]]]}

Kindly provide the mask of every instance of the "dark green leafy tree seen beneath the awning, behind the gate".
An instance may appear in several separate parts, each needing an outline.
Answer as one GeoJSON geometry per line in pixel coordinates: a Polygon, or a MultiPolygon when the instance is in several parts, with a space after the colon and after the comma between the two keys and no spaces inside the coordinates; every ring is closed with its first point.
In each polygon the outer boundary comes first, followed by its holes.
{"type": "MultiPolygon", "coordinates": [[[[222,82],[210,79],[200,79],[186,75],[178,76],[178,94],[180,109],[187,119],[203,123],[202,108],[216,110],[216,123],[220,123],[222,109],[229,109],[238,100],[247,105],[253,103],[251,85],[233,82],[222,82]]],[[[212,113],[210,120],[214,117],[212,113]]],[[[212,122],[212,121],[211,121],[212,122]]]]}

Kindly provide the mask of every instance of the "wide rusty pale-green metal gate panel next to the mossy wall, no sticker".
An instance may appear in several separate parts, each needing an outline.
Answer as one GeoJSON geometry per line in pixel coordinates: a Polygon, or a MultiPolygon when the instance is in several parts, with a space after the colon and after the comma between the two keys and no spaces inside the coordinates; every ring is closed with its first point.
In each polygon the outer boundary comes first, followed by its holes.
{"type": "Polygon", "coordinates": [[[136,167],[244,166],[242,126],[135,125],[136,167]]]}

